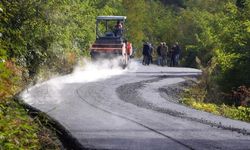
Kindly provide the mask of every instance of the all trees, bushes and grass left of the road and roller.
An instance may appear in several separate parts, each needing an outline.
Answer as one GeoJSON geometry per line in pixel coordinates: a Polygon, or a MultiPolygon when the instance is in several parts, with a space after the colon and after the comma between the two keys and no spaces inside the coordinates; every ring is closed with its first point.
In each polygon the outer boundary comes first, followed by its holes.
{"type": "MultiPolygon", "coordinates": [[[[31,118],[14,96],[38,81],[70,73],[95,40],[97,15],[120,2],[0,1],[0,150],[61,149],[46,120],[31,118]]],[[[114,7],[114,8],[113,8],[114,7]]]]}

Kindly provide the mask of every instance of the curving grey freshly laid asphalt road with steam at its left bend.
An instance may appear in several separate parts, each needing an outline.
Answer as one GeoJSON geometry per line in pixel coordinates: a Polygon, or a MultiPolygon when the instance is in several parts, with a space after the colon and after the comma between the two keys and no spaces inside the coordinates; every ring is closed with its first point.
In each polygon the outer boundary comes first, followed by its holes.
{"type": "MultiPolygon", "coordinates": [[[[89,75],[98,73],[107,72],[89,75]]],[[[68,75],[29,88],[22,99],[87,149],[250,149],[249,123],[185,107],[159,90],[200,73],[139,65],[98,80],[68,75]]]]}

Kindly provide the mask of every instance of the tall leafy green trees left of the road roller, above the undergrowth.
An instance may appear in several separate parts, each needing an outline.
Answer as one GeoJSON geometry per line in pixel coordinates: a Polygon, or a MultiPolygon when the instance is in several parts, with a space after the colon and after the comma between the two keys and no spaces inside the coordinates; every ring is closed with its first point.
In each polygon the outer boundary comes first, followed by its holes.
{"type": "Polygon", "coordinates": [[[28,69],[30,77],[44,65],[60,71],[68,54],[88,55],[96,16],[118,13],[120,4],[117,0],[3,0],[3,47],[9,59],[28,69]]]}

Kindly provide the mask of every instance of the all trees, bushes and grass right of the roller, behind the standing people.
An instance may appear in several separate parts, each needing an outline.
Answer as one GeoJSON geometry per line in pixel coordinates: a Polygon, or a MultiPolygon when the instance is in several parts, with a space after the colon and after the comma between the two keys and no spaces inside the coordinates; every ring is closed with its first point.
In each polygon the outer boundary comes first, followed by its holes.
{"type": "Polygon", "coordinates": [[[203,71],[198,85],[183,94],[183,103],[249,121],[249,1],[138,0],[123,3],[129,20],[129,38],[136,42],[136,47],[141,47],[139,41],[149,41],[155,47],[164,41],[171,48],[178,41],[182,47],[181,66],[203,71]]]}

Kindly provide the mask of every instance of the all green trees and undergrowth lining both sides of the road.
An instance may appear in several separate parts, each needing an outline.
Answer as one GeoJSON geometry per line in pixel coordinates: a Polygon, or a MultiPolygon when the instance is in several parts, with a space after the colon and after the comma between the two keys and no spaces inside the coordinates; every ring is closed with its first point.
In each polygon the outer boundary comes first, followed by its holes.
{"type": "Polygon", "coordinates": [[[0,8],[0,149],[41,148],[43,128],[13,96],[41,79],[70,73],[79,57],[88,56],[98,15],[127,16],[127,38],[138,57],[143,41],[154,47],[178,41],[181,65],[203,71],[183,102],[249,121],[247,0],[1,0],[0,8]]]}

